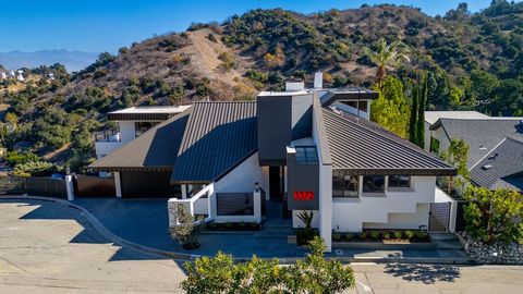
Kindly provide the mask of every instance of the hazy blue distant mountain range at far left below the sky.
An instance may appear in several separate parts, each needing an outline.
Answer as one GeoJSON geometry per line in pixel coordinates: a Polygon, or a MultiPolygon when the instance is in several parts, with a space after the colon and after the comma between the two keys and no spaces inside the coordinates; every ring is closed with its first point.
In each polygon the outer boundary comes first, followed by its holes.
{"type": "Polygon", "coordinates": [[[69,72],[76,72],[95,62],[97,57],[98,53],[94,52],[68,50],[9,51],[0,52],[0,65],[5,69],[20,69],[61,63],[69,72]]]}

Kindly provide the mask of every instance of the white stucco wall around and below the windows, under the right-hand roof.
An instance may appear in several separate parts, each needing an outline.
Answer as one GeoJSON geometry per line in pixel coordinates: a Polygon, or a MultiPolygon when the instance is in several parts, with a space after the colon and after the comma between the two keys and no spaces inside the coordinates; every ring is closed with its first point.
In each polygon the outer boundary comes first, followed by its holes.
{"type": "MultiPolygon", "coordinates": [[[[360,192],[362,186],[363,181],[360,177],[360,192]]],[[[380,195],[361,193],[358,198],[333,198],[332,228],[343,232],[361,232],[363,223],[384,223],[386,228],[390,213],[422,213],[417,205],[434,201],[435,188],[435,176],[412,176],[411,188],[399,189],[386,186],[386,192],[380,195]]],[[[428,210],[426,211],[428,217],[428,210]]],[[[419,218],[412,218],[413,226],[419,225],[419,218]]],[[[402,225],[406,225],[404,216],[392,216],[392,220],[400,219],[403,221],[402,225]]]]}

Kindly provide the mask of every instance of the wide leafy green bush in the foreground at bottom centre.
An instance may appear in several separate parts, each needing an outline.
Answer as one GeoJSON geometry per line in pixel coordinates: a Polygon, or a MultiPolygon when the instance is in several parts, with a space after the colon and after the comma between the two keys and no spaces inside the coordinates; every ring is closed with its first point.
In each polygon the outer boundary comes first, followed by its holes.
{"type": "Polygon", "coordinates": [[[218,253],[185,262],[187,279],[182,282],[186,293],[341,293],[354,287],[354,273],[338,260],[324,257],[320,237],[309,242],[309,254],[290,266],[280,266],[278,259],[265,260],[256,256],[247,262],[235,264],[232,255],[218,253]]]}

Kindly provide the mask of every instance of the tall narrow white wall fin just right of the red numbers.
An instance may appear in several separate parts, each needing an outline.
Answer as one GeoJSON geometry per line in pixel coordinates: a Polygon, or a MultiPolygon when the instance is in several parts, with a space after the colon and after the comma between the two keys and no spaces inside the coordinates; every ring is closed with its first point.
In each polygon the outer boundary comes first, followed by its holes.
{"type": "Polygon", "coordinates": [[[319,166],[319,235],[332,250],[332,167],[319,166]]]}

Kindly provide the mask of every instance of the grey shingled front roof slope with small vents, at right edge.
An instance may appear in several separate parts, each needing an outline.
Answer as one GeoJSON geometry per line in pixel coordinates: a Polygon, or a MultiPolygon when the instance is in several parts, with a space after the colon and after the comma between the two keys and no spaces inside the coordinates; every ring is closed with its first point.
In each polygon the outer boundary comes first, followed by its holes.
{"type": "Polygon", "coordinates": [[[487,188],[523,191],[523,136],[509,136],[471,169],[471,181],[487,188]]]}

